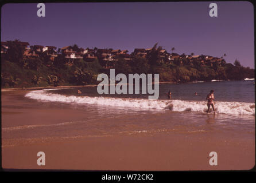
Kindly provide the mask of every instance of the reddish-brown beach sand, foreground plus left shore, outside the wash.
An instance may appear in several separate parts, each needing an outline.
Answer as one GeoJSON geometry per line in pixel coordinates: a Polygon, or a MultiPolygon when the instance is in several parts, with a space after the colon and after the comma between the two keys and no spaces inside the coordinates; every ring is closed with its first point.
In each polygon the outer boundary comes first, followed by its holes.
{"type": "MultiPolygon", "coordinates": [[[[2,92],[2,128],[57,124],[86,117],[80,110],[33,108],[23,100],[26,92],[2,92]]],[[[198,133],[123,134],[5,144],[6,136],[2,133],[4,169],[247,170],[255,162],[253,138],[202,137],[198,133]],[[45,166],[37,165],[40,151],[45,152],[45,166]],[[218,153],[218,166],[209,165],[212,151],[218,153]]]]}

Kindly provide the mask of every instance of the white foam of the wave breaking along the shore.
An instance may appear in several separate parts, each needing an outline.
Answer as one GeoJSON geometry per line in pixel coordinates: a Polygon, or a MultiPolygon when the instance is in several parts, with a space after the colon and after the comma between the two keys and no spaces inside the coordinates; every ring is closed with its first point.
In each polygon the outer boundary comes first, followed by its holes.
{"type": "MultiPolygon", "coordinates": [[[[52,102],[66,102],[73,104],[92,104],[103,106],[119,106],[135,109],[170,109],[176,112],[203,112],[207,110],[206,101],[182,101],[182,100],[148,100],[138,98],[111,98],[111,97],[87,97],[87,96],[64,96],[53,94],[47,90],[35,90],[26,94],[26,97],[52,102]]],[[[215,102],[217,113],[255,115],[255,104],[246,102],[215,102]]]]}

